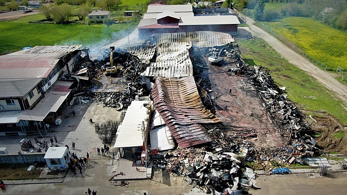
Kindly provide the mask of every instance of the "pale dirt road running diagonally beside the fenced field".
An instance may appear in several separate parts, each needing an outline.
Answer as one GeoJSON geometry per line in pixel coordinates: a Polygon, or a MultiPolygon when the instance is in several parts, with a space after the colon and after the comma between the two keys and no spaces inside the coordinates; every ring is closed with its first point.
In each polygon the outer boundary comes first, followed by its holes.
{"type": "Polygon", "coordinates": [[[245,17],[240,14],[240,17],[245,19],[251,29],[252,34],[264,39],[269,43],[273,49],[275,49],[283,58],[289,61],[289,63],[296,65],[301,70],[315,78],[324,87],[333,92],[339,99],[341,99],[345,105],[347,105],[347,87],[339,83],[330,73],[323,71],[319,67],[313,65],[308,60],[297,54],[295,51],[278,41],[276,38],[254,25],[254,21],[251,18],[245,17]]]}

